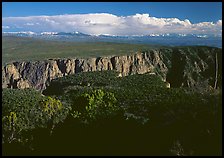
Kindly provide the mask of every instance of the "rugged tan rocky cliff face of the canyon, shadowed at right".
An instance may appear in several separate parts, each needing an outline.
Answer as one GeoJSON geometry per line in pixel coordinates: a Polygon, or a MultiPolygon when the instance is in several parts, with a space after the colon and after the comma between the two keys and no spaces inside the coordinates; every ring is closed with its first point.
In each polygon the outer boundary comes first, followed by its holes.
{"type": "Polygon", "coordinates": [[[221,49],[194,47],[153,49],[128,56],[14,62],[2,68],[2,87],[21,89],[32,87],[42,91],[54,78],[102,70],[117,70],[121,76],[151,72],[170,82],[171,87],[191,87],[202,81],[212,85],[215,78],[216,53],[219,59],[220,84],[221,49]]]}

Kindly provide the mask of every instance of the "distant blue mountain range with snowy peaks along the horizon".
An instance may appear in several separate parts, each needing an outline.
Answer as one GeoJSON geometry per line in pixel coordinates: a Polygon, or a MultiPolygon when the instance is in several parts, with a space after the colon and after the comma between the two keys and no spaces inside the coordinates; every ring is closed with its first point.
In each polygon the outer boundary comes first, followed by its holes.
{"type": "Polygon", "coordinates": [[[75,42],[118,42],[138,44],[159,44],[168,46],[205,45],[222,47],[221,35],[208,34],[149,34],[117,36],[109,34],[89,35],[74,32],[3,32],[3,36],[33,37],[47,40],[75,41],[75,42]]]}

